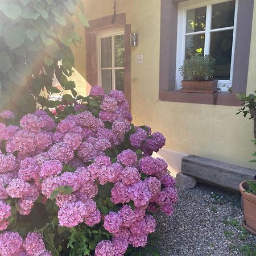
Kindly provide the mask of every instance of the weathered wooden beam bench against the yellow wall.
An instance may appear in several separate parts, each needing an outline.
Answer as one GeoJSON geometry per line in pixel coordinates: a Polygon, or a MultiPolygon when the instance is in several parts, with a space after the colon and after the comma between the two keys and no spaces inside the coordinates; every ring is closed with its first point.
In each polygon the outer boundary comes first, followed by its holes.
{"type": "Polygon", "coordinates": [[[239,191],[241,181],[256,179],[256,170],[196,155],[188,155],[182,159],[181,172],[198,181],[232,191],[239,191]]]}

